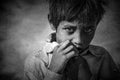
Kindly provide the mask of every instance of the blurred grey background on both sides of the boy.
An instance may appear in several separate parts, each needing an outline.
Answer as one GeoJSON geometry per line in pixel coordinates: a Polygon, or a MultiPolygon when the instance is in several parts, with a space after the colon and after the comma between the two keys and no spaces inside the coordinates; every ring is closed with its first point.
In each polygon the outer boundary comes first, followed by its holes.
{"type": "MultiPolygon", "coordinates": [[[[0,0],[0,80],[22,80],[24,60],[53,32],[46,0],[0,0]]],[[[110,0],[91,44],[120,64],[120,0],[110,0]]]]}

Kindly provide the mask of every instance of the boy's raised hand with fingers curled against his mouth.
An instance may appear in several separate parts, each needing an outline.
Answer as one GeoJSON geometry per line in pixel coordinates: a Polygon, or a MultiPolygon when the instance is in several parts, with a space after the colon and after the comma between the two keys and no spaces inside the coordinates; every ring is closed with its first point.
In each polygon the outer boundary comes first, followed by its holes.
{"type": "Polygon", "coordinates": [[[68,60],[73,57],[77,51],[73,45],[70,45],[70,41],[62,42],[53,51],[52,60],[49,66],[51,71],[56,73],[62,73],[68,60]]]}

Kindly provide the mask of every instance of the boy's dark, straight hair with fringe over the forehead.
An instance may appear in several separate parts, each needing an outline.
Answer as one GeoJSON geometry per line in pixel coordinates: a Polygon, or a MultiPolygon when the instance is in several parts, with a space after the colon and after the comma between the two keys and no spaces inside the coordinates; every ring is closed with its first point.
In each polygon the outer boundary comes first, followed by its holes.
{"type": "Polygon", "coordinates": [[[97,20],[98,23],[105,13],[105,4],[103,0],[49,0],[48,19],[55,28],[64,20],[97,20]]]}

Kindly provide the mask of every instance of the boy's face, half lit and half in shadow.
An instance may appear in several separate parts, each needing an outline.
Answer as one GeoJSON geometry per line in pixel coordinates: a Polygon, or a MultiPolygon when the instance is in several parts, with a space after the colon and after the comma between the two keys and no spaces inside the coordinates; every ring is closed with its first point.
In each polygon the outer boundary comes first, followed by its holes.
{"type": "Polygon", "coordinates": [[[56,40],[58,43],[70,40],[78,49],[88,47],[94,37],[96,23],[78,23],[62,21],[57,27],[56,40]]]}

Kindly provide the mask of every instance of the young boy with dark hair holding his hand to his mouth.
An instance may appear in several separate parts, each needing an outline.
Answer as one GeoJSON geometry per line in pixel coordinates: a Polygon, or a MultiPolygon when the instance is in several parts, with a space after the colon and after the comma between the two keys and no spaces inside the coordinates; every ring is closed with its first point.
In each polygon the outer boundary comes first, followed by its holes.
{"type": "Polygon", "coordinates": [[[25,80],[120,79],[109,53],[90,45],[105,12],[103,4],[101,0],[49,0],[48,20],[56,33],[26,59],[25,80]]]}

